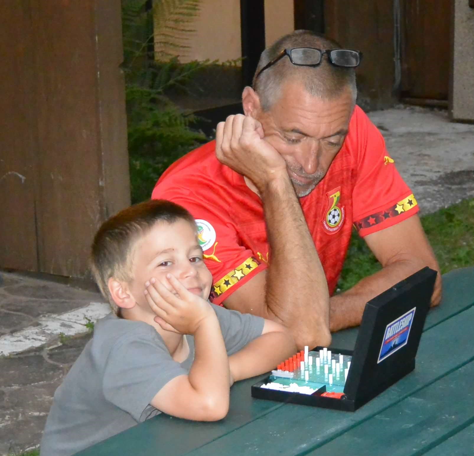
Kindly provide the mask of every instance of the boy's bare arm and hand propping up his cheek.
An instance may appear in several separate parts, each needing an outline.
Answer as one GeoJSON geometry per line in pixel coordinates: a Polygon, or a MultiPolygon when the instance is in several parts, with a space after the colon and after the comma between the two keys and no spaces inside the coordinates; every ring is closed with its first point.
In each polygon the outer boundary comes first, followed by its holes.
{"type": "Polygon", "coordinates": [[[147,301],[163,320],[162,328],[193,335],[194,361],[188,375],[170,380],[150,403],[178,418],[220,420],[229,409],[230,373],[219,320],[212,304],[190,293],[176,278],[169,282],[179,297],[156,282],[147,288],[147,301]]]}

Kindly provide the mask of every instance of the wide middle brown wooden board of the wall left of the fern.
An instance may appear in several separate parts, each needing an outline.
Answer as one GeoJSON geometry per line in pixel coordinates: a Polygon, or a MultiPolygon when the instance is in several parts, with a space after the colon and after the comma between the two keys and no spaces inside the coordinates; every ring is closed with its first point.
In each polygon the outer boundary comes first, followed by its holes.
{"type": "Polygon", "coordinates": [[[43,67],[37,79],[40,270],[77,276],[86,268],[77,247],[87,248],[100,221],[95,2],[31,2],[43,67]]]}

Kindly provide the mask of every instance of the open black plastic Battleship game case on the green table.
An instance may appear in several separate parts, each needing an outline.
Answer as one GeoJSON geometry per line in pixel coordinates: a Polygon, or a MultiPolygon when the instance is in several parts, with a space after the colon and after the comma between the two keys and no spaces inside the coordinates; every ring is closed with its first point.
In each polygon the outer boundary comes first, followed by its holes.
{"type": "MultiPolygon", "coordinates": [[[[326,391],[325,386],[312,394],[261,388],[272,381],[270,376],[252,385],[252,396],[342,411],[357,410],[415,368],[436,275],[437,272],[428,267],[420,269],[365,304],[354,350],[331,349],[333,354],[352,355],[342,398],[321,396],[326,391]],[[413,318],[404,343],[383,352],[395,326],[392,323],[410,313],[413,318]]],[[[396,342],[397,339],[393,344],[396,342]]],[[[319,349],[321,347],[313,350],[319,349]]]]}

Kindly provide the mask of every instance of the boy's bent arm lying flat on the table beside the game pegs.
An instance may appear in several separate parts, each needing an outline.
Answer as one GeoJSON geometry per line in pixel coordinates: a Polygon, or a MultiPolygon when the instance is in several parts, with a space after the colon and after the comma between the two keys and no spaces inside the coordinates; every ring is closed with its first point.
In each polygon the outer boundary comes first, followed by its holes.
{"type": "Polygon", "coordinates": [[[264,374],[296,353],[293,337],[283,325],[265,320],[262,335],[229,357],[232,380],[264,374]]]}

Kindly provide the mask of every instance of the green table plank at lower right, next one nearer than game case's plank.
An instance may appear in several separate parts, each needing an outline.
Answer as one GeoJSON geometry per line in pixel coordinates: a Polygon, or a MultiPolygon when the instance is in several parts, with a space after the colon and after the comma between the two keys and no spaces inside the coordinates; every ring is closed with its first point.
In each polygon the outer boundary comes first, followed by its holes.
{"type": "Polygon", "coordinates": [[[308,455],[424,454],[474,421],[473,378],[471,362],[308,455]]]}

